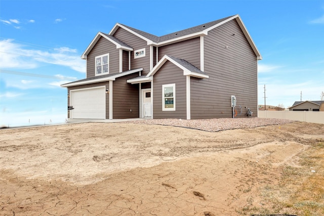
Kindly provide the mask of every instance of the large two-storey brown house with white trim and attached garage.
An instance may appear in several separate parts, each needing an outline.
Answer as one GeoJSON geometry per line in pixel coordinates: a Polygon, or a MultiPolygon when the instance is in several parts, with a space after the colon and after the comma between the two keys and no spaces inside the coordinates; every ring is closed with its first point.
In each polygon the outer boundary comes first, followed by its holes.
{"type": "Polygon", "coordinates": [[[86,79],[61,85],[69,119],[232,118],[232,95],[257,113],[262,59],[238,15],[161,37],[115,24],[82,58],[86,79]]]}

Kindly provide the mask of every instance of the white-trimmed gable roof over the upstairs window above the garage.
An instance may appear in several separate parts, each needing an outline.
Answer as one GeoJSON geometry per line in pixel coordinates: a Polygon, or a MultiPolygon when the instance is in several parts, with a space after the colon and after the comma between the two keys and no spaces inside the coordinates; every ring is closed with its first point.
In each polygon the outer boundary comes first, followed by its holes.
{"type": "Polygon", "coordinates": [[[127,45],[126,43],[119,41],[118,39],[116,39],[115,37],[103,33],[103,32],[98,32],[96,37],[92,40],[92,42],[90,43],[90,45],[87,47],[86,51],[82,54],[81,58],[82,59],[87,59],[87,55],[90,53],[90,51],[92,50],[92,48],[96,45],[96,43],[99,41],[99,39],[103,37],[105,39],[107,39],[108,41],[110,41],[111,43],[116,45],[116,49],[123,49],[123,50],[128,50],[128,51],[133,51],[133,48],[129,45],[127,45]]]}

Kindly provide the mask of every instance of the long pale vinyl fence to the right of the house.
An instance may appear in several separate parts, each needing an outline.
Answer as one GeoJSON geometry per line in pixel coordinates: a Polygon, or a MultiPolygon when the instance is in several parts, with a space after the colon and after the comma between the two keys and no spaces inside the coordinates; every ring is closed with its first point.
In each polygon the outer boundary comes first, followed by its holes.
{"type": "Polygon", "coordinates": [[[324,124],[324,112],[312,111],[258,111],[259,118],[288,119],[324,124]]]}

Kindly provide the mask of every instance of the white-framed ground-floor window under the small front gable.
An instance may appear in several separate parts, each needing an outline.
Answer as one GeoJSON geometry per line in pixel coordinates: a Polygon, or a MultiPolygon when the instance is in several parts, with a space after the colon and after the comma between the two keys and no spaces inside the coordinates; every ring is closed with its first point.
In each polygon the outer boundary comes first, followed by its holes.
{"type": "Polygon", "coordinates": [[[167,84],[162,86],[162,110],[176,110],[176,84],[167,84]]]}

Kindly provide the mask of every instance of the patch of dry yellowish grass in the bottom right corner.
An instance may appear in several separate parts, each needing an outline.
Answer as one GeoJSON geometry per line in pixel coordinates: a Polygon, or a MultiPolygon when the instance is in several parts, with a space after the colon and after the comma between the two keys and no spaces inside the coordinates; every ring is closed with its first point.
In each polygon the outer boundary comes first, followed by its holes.
{"type": "Polygon", "coordinates": [[[236,212],[242,215],[324,215],[324,140],[312,143],[311,148],[298,156],[298,167],[280,167],[278,184],[259,188],[261,207],[249,205],[236,212]]]}

